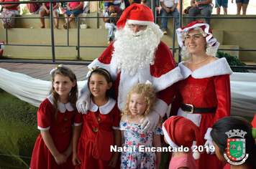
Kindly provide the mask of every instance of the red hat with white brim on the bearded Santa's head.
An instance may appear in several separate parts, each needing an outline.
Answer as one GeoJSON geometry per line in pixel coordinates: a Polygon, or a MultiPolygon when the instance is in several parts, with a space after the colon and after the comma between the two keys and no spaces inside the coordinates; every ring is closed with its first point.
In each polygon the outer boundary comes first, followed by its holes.
{"type": "Polygon", "coordinates": [[[125,24],[155,25],[152,10],[143,4],[132,4],[124,10],[117,21],[117,28],[124,28],[125,24]]]}

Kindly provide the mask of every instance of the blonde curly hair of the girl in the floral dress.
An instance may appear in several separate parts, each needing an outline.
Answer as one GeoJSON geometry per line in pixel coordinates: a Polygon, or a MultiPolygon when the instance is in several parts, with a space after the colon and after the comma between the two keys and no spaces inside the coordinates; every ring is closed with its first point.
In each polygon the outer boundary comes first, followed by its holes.
{"type": "MultiPolygon", "coordinates": [[[[129,102],[132,94],[138,94],[144,97],[145,102],[147,103],[146,110],[142,114],[142,117],[146,117],[155,107],[155,102],[157,100],[157,95],[151,84],[135,84],[127,95],[127,99],[125,101],[124,111],[121,116],[132,118],[132,112],[129,110],[129,102]]],[[[160,121],[157,126],[161,124],[162,118],[160,117],[160,121]]]]}

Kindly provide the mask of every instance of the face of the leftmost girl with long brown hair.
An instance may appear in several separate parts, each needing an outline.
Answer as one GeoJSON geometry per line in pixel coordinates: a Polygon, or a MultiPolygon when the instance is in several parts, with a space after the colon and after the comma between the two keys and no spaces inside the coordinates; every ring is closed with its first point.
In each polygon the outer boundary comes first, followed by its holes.
{"type": "Polygon", "coordinates": [[[60,74],[56,74],[54,81],[52,81],[52,87],[60,95],[60,97],[67,97],[72,89],[76,86],[76,80],[72,82],[69,77],[65,77],[60,74]]]}

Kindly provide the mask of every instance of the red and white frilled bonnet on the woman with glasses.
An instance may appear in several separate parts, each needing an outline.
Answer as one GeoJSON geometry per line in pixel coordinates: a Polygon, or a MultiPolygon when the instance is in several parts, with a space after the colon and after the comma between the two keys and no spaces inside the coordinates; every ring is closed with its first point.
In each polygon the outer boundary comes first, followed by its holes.
{"type": "Polygon", "coordinates": [[[178,44],[180,45],[180,47],[184,46],[184,39],[181,37],[181,32],[188,32],[190,29],[194,29],[196,27],[201,27],[201,29],[203,29],[203,31],[206,32],[206,42],[211,44],[211,47],[219,47],[219,42],[217,42],[217,40],[214,38],[214,35],[211,32],[209,24],[204,23],[204,21],[192,21],[186,27],[180,27],[176,30],[178,44]]]}

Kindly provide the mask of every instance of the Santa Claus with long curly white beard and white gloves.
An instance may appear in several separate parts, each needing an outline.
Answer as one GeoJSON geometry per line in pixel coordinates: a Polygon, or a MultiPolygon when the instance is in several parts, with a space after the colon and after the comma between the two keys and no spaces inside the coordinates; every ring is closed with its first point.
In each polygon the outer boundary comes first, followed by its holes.
{"type": "MultiPolygon", "coordinates": [[[[107,69],[115,81],[119,110],[124,109],[125,99],[134,84],[152,82],[158,100],[155,110],[142,119],[142,129],[155,129],[159,117],[163,117],[175,95],[175,82],[183,79],[176,67],[170,49],[160,41],[163,37],[149,7],[132,4],[117,22],[116,41],[95,59],[88,68],[99,66],[107,69]]],[[[86,113],[89,107],[89,91],[81,90],[77,108],[86,113]]]]}

